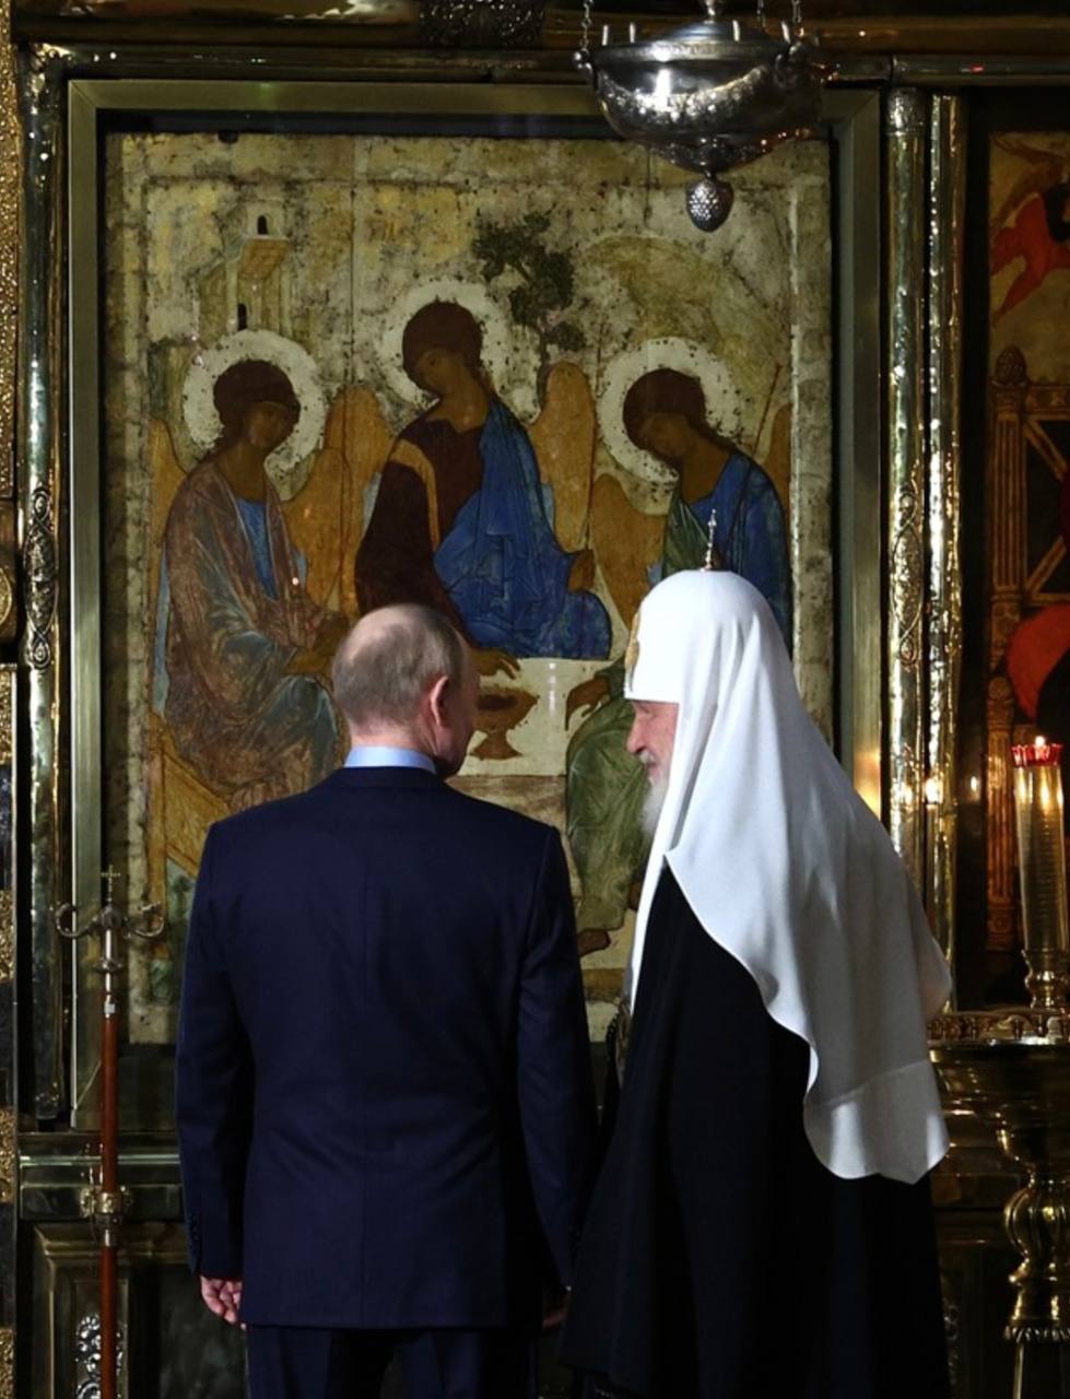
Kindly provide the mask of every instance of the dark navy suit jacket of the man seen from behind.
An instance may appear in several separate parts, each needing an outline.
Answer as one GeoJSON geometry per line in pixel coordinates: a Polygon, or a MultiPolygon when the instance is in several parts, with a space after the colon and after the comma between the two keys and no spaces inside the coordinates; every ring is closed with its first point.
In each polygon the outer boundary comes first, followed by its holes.
{"type": "Polygon", "coordinates": [[[406,768],[213,827],[178,1128],[190,1265],[243,1279],[246,1323],[530,1326],[571,1280],[592,1119],[552,828],[406,768]]]}

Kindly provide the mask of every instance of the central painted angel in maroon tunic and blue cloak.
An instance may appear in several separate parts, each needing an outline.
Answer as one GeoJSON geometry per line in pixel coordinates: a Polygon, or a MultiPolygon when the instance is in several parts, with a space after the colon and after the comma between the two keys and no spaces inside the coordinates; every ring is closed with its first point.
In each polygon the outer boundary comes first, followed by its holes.
{"type": "Polygon", "coordinates": [[[494,392],[481,350],[478,322],[452,302],[431,302],[406,326],[406,372],[436,402],[390,449],[357,551],[361,610],[436,607],[484,673],[518,656],[608,656],[593,555],[558,543],[530,436],[494,392]]]}

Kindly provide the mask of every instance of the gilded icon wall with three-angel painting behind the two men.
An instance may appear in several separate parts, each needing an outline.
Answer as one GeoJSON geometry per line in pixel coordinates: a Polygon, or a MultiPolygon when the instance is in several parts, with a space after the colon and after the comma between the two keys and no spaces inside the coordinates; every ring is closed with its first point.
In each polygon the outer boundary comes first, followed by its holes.
{"type": "MultiPolygon", "coordinates": [[[[57,911],[91,928],[105,869],[165,914],[117,974],[122,1382],[242,1385],[185,1267],[186,921],[208,825],[343,760],[331,655],[380,603],[473,648],[453,781],[562,834],[599,1070],[646,855],[624,653],[711,534],[957,1010],[1024,1004],[1010,747],[1070,739],[1070,20],[804,8],[821,123],[709,235],[597,113],[575,0],[0,6],[0,1395],[17,1351],[21,1395],[99,1382],[101,947],[57,911]]],[[[982,1128],[936,1182],[958,1399],[1014,1364],[982,1128]]]]}

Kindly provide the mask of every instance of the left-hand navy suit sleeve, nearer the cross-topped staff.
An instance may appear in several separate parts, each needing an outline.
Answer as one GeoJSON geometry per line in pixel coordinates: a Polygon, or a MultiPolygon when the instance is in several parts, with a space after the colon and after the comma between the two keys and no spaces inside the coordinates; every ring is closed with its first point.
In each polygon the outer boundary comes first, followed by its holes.
{"type": "Polygon", "coordinates": [[[218,926],[215,848],[210,831],[186,942],[175,1116],[190,1269],[204,1277],[236,1279],[242,1276],[253,1062],[218,926]]]}

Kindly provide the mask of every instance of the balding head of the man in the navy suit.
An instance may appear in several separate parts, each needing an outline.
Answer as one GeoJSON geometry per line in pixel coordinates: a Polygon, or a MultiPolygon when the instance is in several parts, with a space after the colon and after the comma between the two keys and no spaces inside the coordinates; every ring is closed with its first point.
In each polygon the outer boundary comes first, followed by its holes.
{"type": "Polygon", "coordinates": [[[414,725],[435,683],[464,688],[462,637],[431,607],[399,603],[362,617],[334,658],[334,701],[354,733],[414,725]]]}

